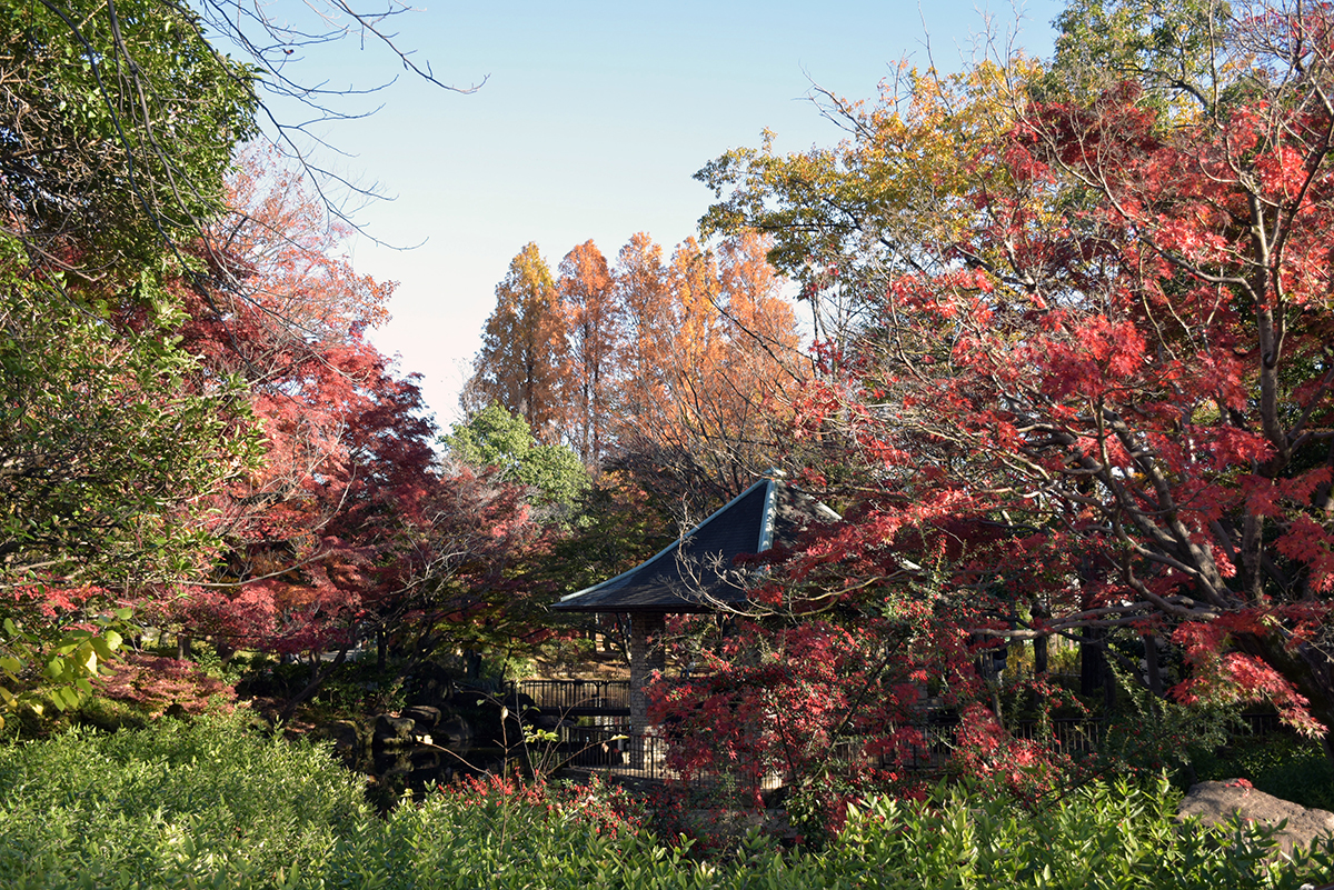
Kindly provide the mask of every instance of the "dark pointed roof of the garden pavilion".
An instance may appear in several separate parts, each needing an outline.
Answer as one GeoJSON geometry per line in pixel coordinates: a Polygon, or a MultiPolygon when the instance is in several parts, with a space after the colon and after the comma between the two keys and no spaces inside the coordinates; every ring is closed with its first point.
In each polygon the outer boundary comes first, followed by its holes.
{"type": "Polygon", "coordinates": [[[746,601],[748,573],[736,557],[790,544],[811,521],[838,520],[815,498],[760,480],[688,534],[639,566],[564,597],[560,612],[714,612],[746,601]]]}

